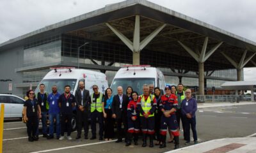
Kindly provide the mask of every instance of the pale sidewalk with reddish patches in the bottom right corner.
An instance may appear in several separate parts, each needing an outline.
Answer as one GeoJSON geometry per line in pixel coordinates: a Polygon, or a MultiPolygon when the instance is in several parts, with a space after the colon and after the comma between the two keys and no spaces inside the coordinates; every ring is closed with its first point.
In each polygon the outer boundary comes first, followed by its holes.
{"type": "Polygon", "coordinates": [[[245,153],[256,152],[256,137],[223,138],[198,143],[166,153],[245,153]]]}

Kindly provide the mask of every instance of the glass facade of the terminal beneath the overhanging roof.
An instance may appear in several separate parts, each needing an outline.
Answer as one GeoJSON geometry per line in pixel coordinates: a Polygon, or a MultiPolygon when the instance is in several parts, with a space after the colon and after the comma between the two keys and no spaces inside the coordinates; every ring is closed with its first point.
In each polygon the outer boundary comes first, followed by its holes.
{"type": "MultiPolygon", "coordinates": [[[[79,49],[79,63],[99,64],[106,66],[120,67],[132,64],[132,52],[124,44],[115,44],[104,41],[87,40],[77,36],[62,34],[61,36],[52,36],[51,38],[35,41],[24,46],[24,65],[34,66],[40,64],[49,64],[54,62],[76,62],[79,49]],[[87,45],[83,45],[88,42],[87,45]]],[[[198,64],[195,61],[189,61],[184,57],[163,52],[154,52],[152,50],[142,50],[140,56],[141,64],[150,64],[159,68],[163,73],[184,73],[187,75],[197,75],[198,64]],[[189,65],[189,68],[188,68],[189,65]],[[192,71],[188,71],[190,69],[192,71]],[[181,72],[180,72],[181,71],[181,72]]],[[[207,65],[210,66],[210,65],[207,65]]],[[[23,72],[23,83],[40,82],[50,69],[38,71],[23,72]]],[[[99,70],[97,70],[99,71],[99,70]]],[[[210,72],[205,72],[209,75],[210,72]]],[[[216,70],[210,76],[221,78],[236,79],[236,69],[216,70]]],[[[111,85],[116,71],[106,71],[108,84],[111,85]]],[[[165,75],[167,84],[179,84],[179,77],[165,75]]],[[[207,87],[220,87],[223,80],[207,79],[207,87]]],[[[182,84],[186,86],[198,86],[198,78],[182,77],[182,84]]],[[[24,88],[27,91],[27,88],[24,88]]]]}

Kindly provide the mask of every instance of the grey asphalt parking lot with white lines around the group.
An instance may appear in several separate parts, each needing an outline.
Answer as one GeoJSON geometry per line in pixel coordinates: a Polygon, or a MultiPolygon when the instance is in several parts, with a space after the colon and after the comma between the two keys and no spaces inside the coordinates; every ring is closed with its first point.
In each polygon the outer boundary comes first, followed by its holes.
{"type": "MultiPolygon", "coordinates": [[[[244,137],[256,133],[256,105],[228,106],[216,108],[200,108],[197,112],[198,142],[218,138],[244,137]]],[[[20,120],[4,122],[3,152],[165,152],[172,150],[173,143],[159,149],[141,147],[133,144],[125,147],[125,143],[115,143],[99,140],[76,140],[76,131],[72,132],[73,140],[47,140],[40,136],[38,142],[28,142],[26,124],[20,120]]],[[[180,136],[180,147],[184,145],[183,133],[180,136]]],[[[89,131],[89,138],[92,133],[89,131]]],[[[83,137],[82,137],[83,138],[83,137]]],[[[99,138],[99,137],[98,137],[99,138]]],[[[192,137],[193,138],[193,137],[192,137]]],[[[193,140],[192,140],[193,141],[193,140]]]]}

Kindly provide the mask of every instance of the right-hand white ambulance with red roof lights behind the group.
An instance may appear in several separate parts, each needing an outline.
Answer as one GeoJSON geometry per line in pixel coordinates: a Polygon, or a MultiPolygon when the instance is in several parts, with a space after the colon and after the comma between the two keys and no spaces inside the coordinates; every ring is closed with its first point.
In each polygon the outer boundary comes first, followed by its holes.
{"type": "Polygon", "coordinates": [[[165,87],[163,73],[159,69],[150,67],[149,65],[122,66],[116,72],[111,89],[113,89],[113,94],[117,94],[117,87],[122,86],[125,93],[126,88],[131,86],[133,91],[142,94],[144,84],[154,84],[154,87],[159,87],[163,92],[165,87]]]}

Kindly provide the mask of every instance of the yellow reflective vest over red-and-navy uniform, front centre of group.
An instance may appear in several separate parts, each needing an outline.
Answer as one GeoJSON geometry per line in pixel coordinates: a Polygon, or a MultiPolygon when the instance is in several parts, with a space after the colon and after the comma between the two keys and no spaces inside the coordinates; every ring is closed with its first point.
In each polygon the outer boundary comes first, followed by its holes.
{"type": "MultiPolygon", "coordinates": [[[[147,101],[145,101],[144,95],[143,94],[141,95],[140,103],[141,103],[141,108],[143,112],[148,113],[150,111],[150,109],[153,106],[154,97],[155,96],[153,94],[149,94],[147,101]]],[[[143,115],[140,113],[140,116],[143,116],[143,115]]],[[[148,115],[148,117],[152,117],[152,116],[154,116],[154,113],[148,115]]]]}

